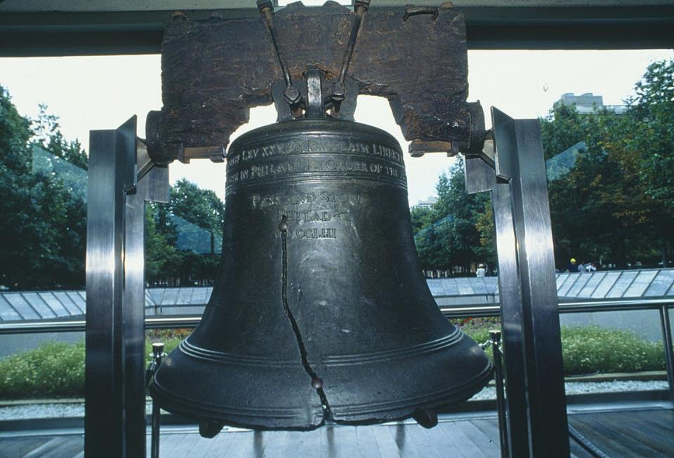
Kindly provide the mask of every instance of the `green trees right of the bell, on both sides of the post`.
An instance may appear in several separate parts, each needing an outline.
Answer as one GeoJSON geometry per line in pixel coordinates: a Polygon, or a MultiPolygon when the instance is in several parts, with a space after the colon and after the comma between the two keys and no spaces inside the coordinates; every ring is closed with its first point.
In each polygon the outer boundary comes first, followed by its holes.
{"type": "MultiPolygon", "coordinates": [[[[560,270],[571,257],[625,268],[668,266],[674,256],[674,60],[650,65],[635,90],[627,114],[580,114],[555,104],[541,119],[546,159],[584,145],[570,170],[556,170],[548,182],[560,270]]],[[[430,213],[412,211],[423,268],[493,265],[491,204],[487,194],[465,194],[461,161],[440,177],[437,191],[430,213]]]]}

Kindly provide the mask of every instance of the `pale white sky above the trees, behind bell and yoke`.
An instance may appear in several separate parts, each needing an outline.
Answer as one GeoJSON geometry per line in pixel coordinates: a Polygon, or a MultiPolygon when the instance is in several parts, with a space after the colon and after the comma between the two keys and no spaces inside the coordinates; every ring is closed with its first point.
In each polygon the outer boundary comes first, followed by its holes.
{"type": "MultiPolygon", "coordinates": [[[[673,50],[469,50],[469,101],[480,100],[489,120],[494,106],[513,118],[546,116],[563,93],[594,93],[604,104],[619,105],[633,93],[647,65],[674,58],[673,50]]],[[[145,116],[161,109],[159,55],[62,58],[0,58],[0,86],[20,114],[37,117],[39,104],[60,118],[67,140],[88,150],[88,131],[112,129],[138,115],[138,136],[145,137],[145,116]]],[[[407,152],[388,101],[359,96],[356,121],[388,131],[407,152]]],[[[251,109],[251,121],[232,135],[273,123],[272,107],[251,109]]],[[[435,184],[454,159],[445,154],[405,155],[409,203],[435,195],[435,184]]],[[[169,168],[171,182],[187,178],[224,198],[225,165],[208,160],[169,168]]]]}

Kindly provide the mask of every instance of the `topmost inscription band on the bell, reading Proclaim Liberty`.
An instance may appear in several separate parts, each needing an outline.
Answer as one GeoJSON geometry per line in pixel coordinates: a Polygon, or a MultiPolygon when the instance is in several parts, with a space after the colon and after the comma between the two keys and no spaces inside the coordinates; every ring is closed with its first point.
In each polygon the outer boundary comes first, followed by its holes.
{"type": "Polygon", "coordinates": [[[259,147],[242,149],[237,154],[232,154],[227,158],[227,166],[237,166],[239,163],[272,156],[302,153],[363,154],[366,156],[378,156],[399,164],[403,163],[402,153],[397,148],[387,147],[383,144],[355,142],[336,138],[310,138],[308,140],[275,142],[259,147]]]}

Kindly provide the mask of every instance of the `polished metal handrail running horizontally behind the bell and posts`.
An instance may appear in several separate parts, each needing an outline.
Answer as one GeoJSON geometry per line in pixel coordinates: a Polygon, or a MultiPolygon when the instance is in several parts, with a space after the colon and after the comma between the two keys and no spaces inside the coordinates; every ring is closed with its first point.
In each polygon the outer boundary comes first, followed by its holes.
{"type": "MultiPolygon", "coordinates": [[[[560,302],[560,314],[596,311],[627,311],[660,309],[663,306],[674,307],[673,299],[639,299],[616,301],[560,302]]],[[[473,304],[459,306],[440,306],[447,318],[498,316],[501,306],[498,304],[473,304]]],[[[145,329],[194,328],[201,321],[200,315],[146,316],[145,329]]],[[[78,320],[39,320],[0,323],[0,335],[32,334],[41,332],[84,332],[85,321],[78,320]]]]}

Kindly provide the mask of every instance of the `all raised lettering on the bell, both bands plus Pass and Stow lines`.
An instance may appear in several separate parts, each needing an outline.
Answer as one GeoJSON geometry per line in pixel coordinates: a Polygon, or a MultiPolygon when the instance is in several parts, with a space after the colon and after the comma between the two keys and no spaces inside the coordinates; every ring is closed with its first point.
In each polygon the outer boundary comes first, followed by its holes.
{"type": "MultiPolygon", "coordinates": [[[[407,187],[402,153],[382,144],[342,139],[278,141],[247,147],[227,158],[227,189],[242,184],[268,184],[277,180],[301,181],[303,177],[343,177],[388,182],[407,187]],[[312,154],[320,153],[320,156],[312,154]],[[338,176],[331,176],[336,174],[338,176]],[[304,176],[303,176],[304,175],[304,176]],[[310,175],[310,176],[307,176],[310,175]]],[[[358,192],[314,190],[300,194],[251,194],[254,209],[267,209],[273,220],[285,217],[288,238],[335,239],[338,227],[348,224],[349,209],[361,206],[358,192]]]]}

